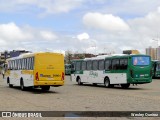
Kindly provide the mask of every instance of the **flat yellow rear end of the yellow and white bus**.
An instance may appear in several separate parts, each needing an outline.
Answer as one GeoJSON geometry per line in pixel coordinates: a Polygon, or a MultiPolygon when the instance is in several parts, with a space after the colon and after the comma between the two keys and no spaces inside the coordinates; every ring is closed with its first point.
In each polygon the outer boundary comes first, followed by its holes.
{"type": "Polygon", "coordinates": [[[63,85],[64,56],[62,54],[36,54],[34,85],[63,85]]]}

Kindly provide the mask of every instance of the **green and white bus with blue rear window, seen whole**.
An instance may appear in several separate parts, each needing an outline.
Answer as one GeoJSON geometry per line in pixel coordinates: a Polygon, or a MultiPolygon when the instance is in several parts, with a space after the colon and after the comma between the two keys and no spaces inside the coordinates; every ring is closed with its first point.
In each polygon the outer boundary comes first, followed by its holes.
{"type": "Polygon", "coordinates": [[[106,87],[152,82],[152,63],[148,55],[103,55],[73,60],[71,80],[79,85],[91,83],[106,87]]]}

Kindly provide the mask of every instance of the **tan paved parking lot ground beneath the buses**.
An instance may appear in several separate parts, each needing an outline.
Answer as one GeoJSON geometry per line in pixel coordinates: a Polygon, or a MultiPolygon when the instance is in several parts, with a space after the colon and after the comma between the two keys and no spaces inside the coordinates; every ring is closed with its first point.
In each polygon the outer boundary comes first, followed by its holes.
{"type": "Polygon", "coordinates": [[[64,86],[42,92],[9,88],[1,77],[0,106],[1,111],[160,111],[160,80],[122,89],[79,86],[66,76],[64,86]]]}

